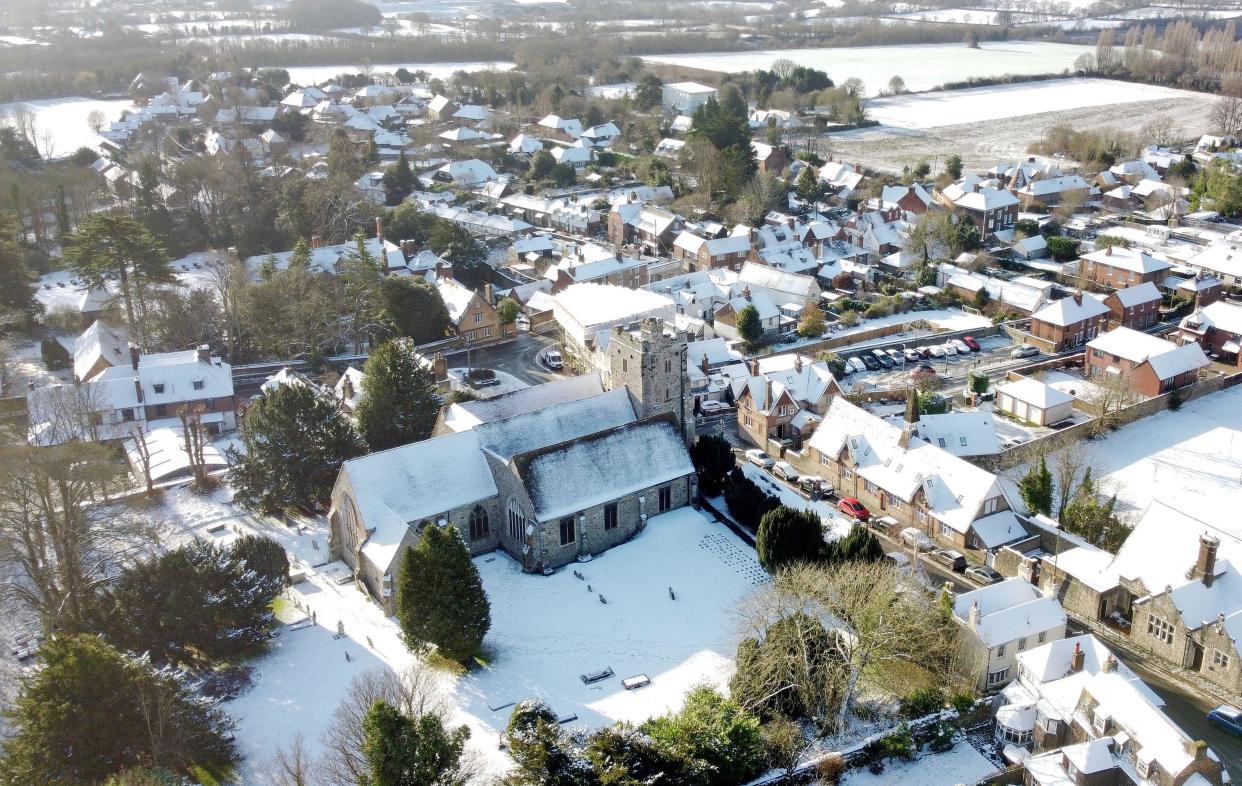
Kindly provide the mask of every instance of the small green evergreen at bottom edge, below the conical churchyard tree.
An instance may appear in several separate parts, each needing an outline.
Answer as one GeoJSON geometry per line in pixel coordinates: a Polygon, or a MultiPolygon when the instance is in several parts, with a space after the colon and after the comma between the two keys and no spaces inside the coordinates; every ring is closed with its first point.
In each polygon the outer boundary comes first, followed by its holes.
{"type": "Polygon", "coordinates": [[[445,729],[435,714],[402,715],[379,699],[363,716],[363,756],[370,772],[360,786],[465,786],[461,759],[469,729],[445,729]]]}

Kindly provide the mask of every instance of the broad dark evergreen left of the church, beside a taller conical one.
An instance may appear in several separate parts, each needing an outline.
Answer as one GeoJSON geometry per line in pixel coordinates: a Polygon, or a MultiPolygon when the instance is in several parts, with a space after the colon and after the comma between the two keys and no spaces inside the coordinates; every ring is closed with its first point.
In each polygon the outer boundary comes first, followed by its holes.
{"type": "Polygon", "coordinates": [[[330,396],[308,385],[282,385],[250,407],[243,451],[230,448],[233,498],[263,513],[327,505],[340,464],[365,452],[330,396]]]}

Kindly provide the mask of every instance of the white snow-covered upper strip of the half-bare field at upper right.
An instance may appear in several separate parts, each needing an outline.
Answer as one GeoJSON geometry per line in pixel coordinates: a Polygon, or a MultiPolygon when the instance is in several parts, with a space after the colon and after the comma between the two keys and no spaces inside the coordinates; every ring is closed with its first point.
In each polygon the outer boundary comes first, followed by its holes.
{"type": "Polygon", "coordinates": [[[1187,96],[1186,91],[1135,82],[1049,79],[877,98],[867,103],[867,113],[884,125],[924,129],[1187,96]]]}

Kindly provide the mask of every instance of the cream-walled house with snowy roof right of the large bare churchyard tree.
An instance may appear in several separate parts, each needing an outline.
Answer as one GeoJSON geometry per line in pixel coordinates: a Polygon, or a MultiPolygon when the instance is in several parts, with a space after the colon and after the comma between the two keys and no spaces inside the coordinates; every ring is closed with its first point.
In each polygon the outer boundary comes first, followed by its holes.
{"type": "Polygon", "coordinates": [[[1054,597],[1022,579],[1006,579],[953,599],[953,616],[971,633],[981,662],[980,693],[1017,677],[1017,657],[1066,636],[1066,612],[1054,597]]]}

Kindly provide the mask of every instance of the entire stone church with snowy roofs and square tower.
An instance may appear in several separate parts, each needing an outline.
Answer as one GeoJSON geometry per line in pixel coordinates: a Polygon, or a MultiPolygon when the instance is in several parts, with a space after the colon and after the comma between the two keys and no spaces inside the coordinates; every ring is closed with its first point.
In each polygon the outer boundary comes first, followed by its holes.
{"type": "Polygon", "coordinates": [[[503,549],[545,572],[689,504],[686,341],[658,320],[616,328],[606,373],[450,405],[431,438],[345,462],[333,559],[392,613],[401,555],[424,526],[453,525],[472,554],[503,549]]]}

